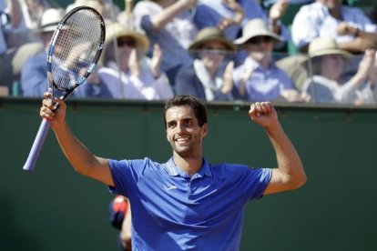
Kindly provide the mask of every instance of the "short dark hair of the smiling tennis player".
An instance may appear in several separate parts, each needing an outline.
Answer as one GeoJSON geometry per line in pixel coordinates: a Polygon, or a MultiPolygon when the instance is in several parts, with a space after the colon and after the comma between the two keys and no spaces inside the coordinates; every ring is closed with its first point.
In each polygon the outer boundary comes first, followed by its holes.
{"type": "Polygon", "coordinates": [[[203,126],[207,123],[207,108],[198,98],[193,95],[176,95],[175,97],[169,99],[165,104],[164,109],[164,124],[165,129],[167,128],[167,111],[171,107],[184,106],[187,105],[191,107],[194,111],[195,117],[198,119],[199,126],[203,126]]]}

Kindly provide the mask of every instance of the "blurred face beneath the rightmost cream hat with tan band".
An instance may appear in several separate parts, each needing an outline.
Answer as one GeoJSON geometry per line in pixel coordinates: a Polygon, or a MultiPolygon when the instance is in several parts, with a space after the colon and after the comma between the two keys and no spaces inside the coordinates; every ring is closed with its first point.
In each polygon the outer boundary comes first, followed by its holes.
{"type": "Polygon", "coordinates": [[[338,81],[344,71],[345,59],[342,55],[322,55],[320,74],[338,81]]]}

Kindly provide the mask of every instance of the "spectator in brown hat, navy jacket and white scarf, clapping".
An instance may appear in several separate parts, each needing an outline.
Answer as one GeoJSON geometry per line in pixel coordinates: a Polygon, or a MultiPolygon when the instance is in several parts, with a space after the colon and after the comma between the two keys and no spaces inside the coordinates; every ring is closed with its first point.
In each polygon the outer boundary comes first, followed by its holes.
{"type": "Polygon", "coordinates": [[[233,61],[226,60],[236,46],[215,27],[202,29],[189,46],[192,65],[182,67],[176,77],[177,95],[195,95],[204,101],[233,100],[233,61]]]}

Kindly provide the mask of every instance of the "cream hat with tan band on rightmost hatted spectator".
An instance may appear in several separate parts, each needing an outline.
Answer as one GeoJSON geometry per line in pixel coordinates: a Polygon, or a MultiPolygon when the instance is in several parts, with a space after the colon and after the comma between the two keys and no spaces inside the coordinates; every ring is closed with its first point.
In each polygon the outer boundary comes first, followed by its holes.
{"type": "Polygon", "coordinates": [[[344,55],[348,58],[352,57],[352,54],[341,50],[334,39],[325,37],[311,40],[308,54],[311,58],[321,55],[344,55]]]}

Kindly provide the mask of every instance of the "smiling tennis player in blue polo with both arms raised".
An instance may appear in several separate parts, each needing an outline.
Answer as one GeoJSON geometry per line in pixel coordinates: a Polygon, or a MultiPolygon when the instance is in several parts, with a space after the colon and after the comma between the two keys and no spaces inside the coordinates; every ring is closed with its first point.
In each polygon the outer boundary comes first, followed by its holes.
{"type": "Polygon", "coordinates": [[[252,199],[298,188],[306,182],[294,146],[270,102],[250,105],[250,118],[264,127],[278,168],[211,165],[202,155],[207,111],[199,99],[178,95],[165,105],[167,139],[173,156],[159,164],[144,159],[113,160],[92,155],[69,130],[66,104],[49,95],[40,115],[52,128],[76,171],[127,196],[132,208],[133,250],[238,250],[244,210],[252,199]]]}

